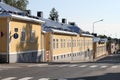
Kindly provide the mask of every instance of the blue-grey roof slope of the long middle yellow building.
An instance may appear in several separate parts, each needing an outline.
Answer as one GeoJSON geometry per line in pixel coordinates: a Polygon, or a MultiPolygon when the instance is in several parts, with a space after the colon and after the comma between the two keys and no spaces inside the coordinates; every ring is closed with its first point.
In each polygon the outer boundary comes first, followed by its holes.
{"type": "Polygon", "coordinates": [[[82,31],[76,25],[63,24],[60,22],[56,22],[56,21],[52,21],[52,20],[44,19],[44,18],[40,18],[40,19],[45,21],[45,24],[43,24],[43,30],[45,31],[47,31],[48,29],[58,29],[58,30],[75,32],[78,34],[82,31]]]}

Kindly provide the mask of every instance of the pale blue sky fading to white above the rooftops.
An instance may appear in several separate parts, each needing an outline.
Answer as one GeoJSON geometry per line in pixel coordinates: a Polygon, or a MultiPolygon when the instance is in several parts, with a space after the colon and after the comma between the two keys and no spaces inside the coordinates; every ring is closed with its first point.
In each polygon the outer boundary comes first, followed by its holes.
{"type": "Polygon", "coordinates": [[[82,30],[120,38],[120,0],[28,0],[27,9],[32,15],[43,11],[48,18],[52,8],[59,14],[59,21],[75,22],[82,30]]]}

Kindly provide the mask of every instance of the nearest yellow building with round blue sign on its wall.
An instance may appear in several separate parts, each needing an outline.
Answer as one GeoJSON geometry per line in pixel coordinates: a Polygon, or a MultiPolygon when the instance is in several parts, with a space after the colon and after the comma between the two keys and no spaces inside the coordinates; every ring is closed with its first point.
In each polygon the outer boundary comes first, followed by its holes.
{"type": "Polygon", "coordinates": [[[0,62],[44,60],[44,21],[11,11],[0,13],[0,62]],[[14,14],[13,14],[14,13],[14,14]]]}

